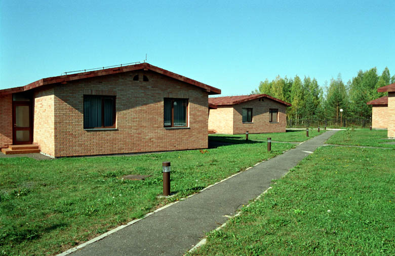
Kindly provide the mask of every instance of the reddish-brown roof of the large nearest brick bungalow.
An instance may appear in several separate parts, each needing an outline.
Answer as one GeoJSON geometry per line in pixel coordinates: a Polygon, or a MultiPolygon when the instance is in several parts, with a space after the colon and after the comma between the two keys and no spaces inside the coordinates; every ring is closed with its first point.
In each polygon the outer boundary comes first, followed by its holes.
{"type": "Polygon", "coordinates": [[[56,84],[56,83],[66,84],[68,81],[74,81],[74,80],[102,76],[102,75],[117,74],[117,73],[123,73],[123,72],[134,71],[134,70],[151,70],[153,72],[160,73],[160,74],[172,77],[174,79],[189,83],[192,86],[200,87],[200,88],[206,90],[206,92],[208,92],[209,95],[221,94],[220,89],[208,86],[205,83],[198,82],[196,80],[193,80],[188,77],[170,72],[168,70],[150,65],[145,62],[145,63],[135,64],[135,65],[106,68],[106,69],[100,69],[100,70],[94,70],[94,71],[88,71],[88,72],[74,73],[74,74],[69,74],[69,75],[59,75],[59,76],[42,78],[37,81],[31,82],[31,83],[27,84],[26,86],[0,90],[0,96],[12,94],[12,93],[24,92],[24,91],[28,91],[28,90],[31,90],[31,89],[34,89],[37,87],[46,86],[48,84],[56,84]]]}

